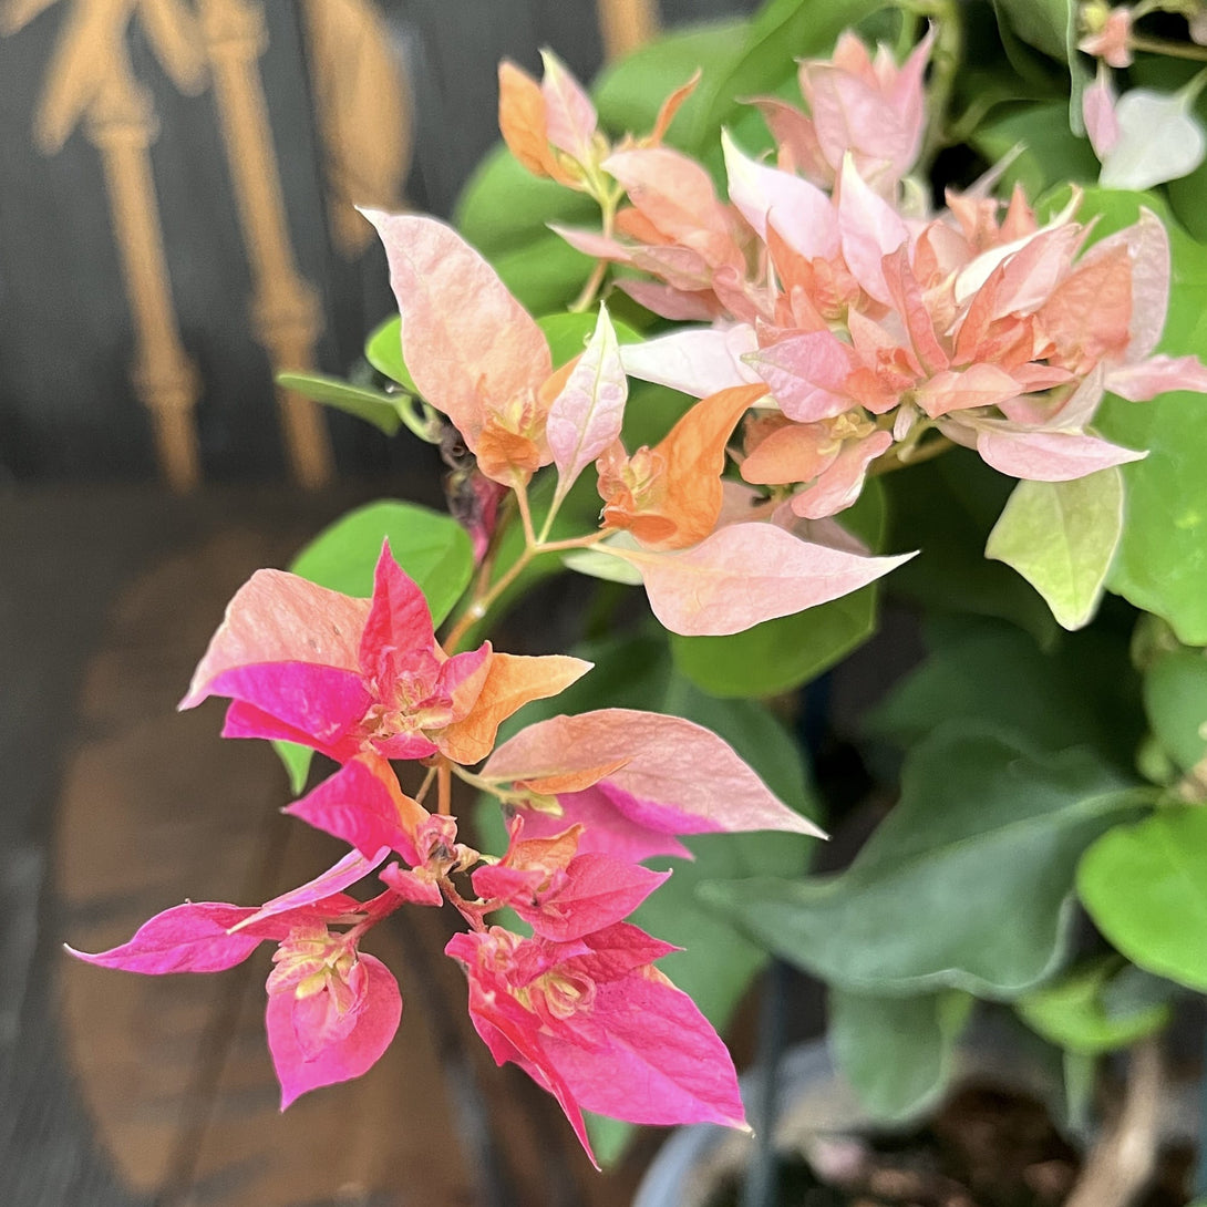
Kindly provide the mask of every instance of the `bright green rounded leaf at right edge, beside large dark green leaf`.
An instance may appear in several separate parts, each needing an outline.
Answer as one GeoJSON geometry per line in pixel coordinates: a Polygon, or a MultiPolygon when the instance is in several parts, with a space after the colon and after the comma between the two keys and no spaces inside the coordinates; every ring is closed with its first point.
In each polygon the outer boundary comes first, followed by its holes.
{"type": "Polygon", "coordinates": [[[1207,809],[1165,807],[1085,852],[1077,890],[1132,963],[1207,991],[1207,809]]]}

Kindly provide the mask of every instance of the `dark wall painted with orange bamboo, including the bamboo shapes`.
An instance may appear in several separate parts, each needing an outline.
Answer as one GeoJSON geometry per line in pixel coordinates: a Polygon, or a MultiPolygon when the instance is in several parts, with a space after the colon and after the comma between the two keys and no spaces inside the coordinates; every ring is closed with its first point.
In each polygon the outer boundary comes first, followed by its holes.
{"type": "Polygon", "coordinates": [[[753,0],[7,0],[0,479],[281,478],[418,453],[275,397],[390,309],[355,197],[447,214],[495,64],[583,77],[753,0]],[[363,233],[363,232],[362,232],[363,233]]]}

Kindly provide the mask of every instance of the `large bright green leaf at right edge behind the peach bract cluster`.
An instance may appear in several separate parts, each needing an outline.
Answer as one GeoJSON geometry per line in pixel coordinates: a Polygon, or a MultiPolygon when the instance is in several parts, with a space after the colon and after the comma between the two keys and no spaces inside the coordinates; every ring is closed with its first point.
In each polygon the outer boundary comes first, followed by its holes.
{"type": "MultiPolygon", "coordinates": [[[[1135,222],[1147,205],[1170,232],[1173,279],[1160,350],[1207,354],[1207,246],[1190,238],[1156,197],[1089,189],[1083,221],[1097,215],[1095,237],[1135,222]]],[[[1107,587],[1164,617],[1188,646],[1207,646],[1207,438],[1202,395],[1165,393],[1153,402],[1108,397],[1096,426],[1108,439],[1147,448],[1124,467],[1127,513],[1107,587]]]]}

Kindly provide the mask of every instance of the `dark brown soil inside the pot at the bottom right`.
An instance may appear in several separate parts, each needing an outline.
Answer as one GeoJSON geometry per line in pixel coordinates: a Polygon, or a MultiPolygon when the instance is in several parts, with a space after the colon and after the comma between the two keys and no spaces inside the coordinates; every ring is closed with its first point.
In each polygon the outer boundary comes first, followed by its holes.
{"type": "MultiPolygon", "coordinates": [[[[865,1137],[857,1154],[841,1184],[823,1183],[803,1160],[785,1161],[777,1207],[1060,1207],[1081,1165],[1040,1102],[976,1084],[954,1094],[925,1127],[865,1137]]],[[[1189,1151],[1164,1153],[1136,1207],[1184,1207],[1189,1166],[1189,1151]]],[[[740,1202],[733,1183],[709,1207],[740,1202]]]]}

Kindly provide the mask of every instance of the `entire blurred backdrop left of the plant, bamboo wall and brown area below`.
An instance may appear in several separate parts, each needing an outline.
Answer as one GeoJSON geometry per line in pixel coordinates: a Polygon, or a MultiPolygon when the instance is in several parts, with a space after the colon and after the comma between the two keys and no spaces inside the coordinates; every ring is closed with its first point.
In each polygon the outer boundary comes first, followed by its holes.
{"type": "Polygon", "coordinates": [[[267,747],[174,706],[256,567],[357,502],[439,502],[428,447],[274,386],[355,375],[392,309],[352,203],[447,215],[496,141],[501,57],[550,46],[589,80],[752,7],[0,0],[0,1203],[628,1201],[652,1142],[600,1178],[494,1071],[441,919],[379,952],[407,1002],[387,1059],[284,1118],[266,951],[138,978],[62,944],[332,855],[279,816],[267,747]]]}

